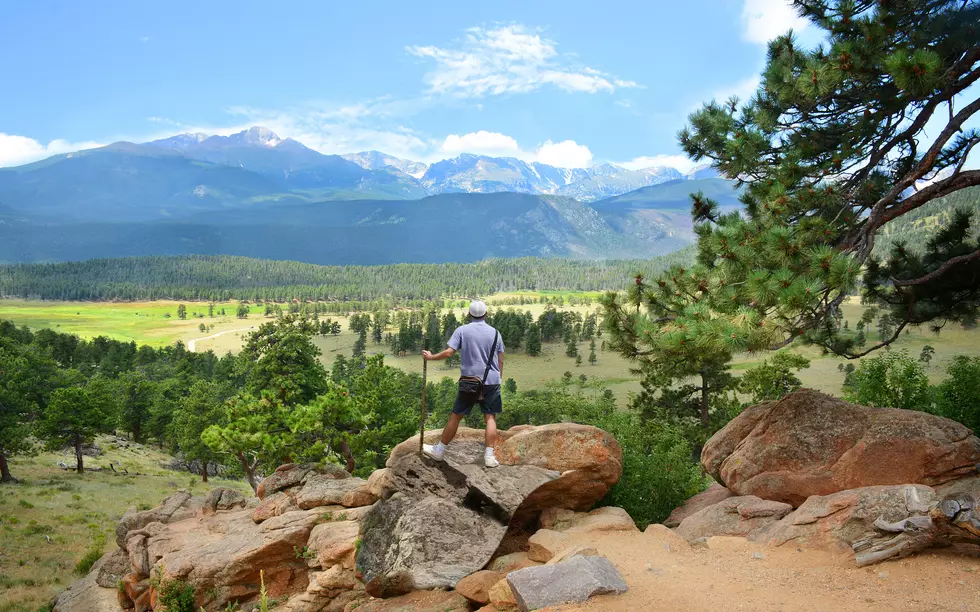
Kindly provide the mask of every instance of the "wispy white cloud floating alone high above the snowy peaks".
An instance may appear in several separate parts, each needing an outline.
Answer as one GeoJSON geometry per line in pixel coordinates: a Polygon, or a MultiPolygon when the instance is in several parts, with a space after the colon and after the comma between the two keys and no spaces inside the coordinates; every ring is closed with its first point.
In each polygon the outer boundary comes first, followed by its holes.
{"type": "Polygon", "coordinates": [[[527,93],[545,85],[569,92],[596,93],[635,87],[558,53],[554,41],[523,25],[471,28],[457,48],[407,47],[409,53],[434,60],[425,75],[432,93],[480,97],[527,93]]]}

